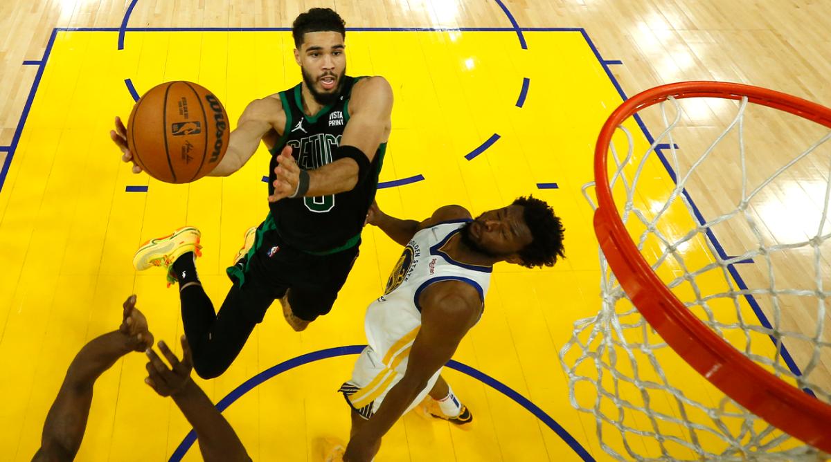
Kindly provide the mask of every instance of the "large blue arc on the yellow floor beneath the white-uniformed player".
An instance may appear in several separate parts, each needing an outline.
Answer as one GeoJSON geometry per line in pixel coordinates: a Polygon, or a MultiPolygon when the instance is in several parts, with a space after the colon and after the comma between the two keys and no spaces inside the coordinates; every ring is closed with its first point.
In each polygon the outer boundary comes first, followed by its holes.
{"type": "MultiPolygon", "coordinates": [[[[366,348],[366,345],[349,345],[345,347],[327,348],[325,350],[319,350],[317,352],[302,354],[298,357],[293,357],[288,361],[280,362],[278,365],[269,367],[265,371],[258,373],[256,376],[249,378],[247,381],[243,382],[243,384],[239,387],[236,387],[234,391],[231,391],[227,396],[225,396],[216,404],[216,408],[219,412],[225,411],[229,408],[229,406],[234,404],[234,401],[237,401],[248,391],[253,390],[255,387],[258,387],[261,383],[267,381],[268,379],[275,377],[283,372],[289,371],[295,367],[308,364],[309,362],[328,359],[330,357],[341,357],[360,354],[364,348],[366,348]]],[[[543,421],[543,423],[545,423],[545,425],[547,425],[548,428],[553,430],[561,439],[563,439],[563,441],[566,444],[568,444],[574,450],[574,452],[577,453],[577,455],[579,455],[583,460],[594,460],[592,458],[592,455],[589,455],[588,451],[585,450],[577,440],[574,440],[572,435],[568,434],[567,430],[563,429],[563,427],[560,426],[557,423],[557,421],[554,421],[551,416],[548,416],[548,414],[546,414],[545,411],[540,409],[533,402],[529,401],[529,399],[525,396],[520,395],[517,391],[514,391],[513,389],[504,385],[504,383],[497,381],[493,377],[484,374],[484,372],[479,372],[473,367],[466,366],[465,364],[462,364],[460,362],[450,360],[450,362],[447,362],[447,367],[467,374],[470,377],[479,380],[479,382],[483,382],[489,387],[494,388],[494,390],[501,392],[505,396],[508,396],[510,399],[514,400],[514,402],[519,404],[519,406],[523,406],[527,411],[531,412],[539,420],[543,421]]],[[[346,412],[347,406],[343,406],[343,409],[344,412],[346,412]]],[[[182,460],[182,458],[188,452],[190,447],[194,445],[195,440],[196,432],[194,430],[190,430],[188,432],[188,435],[185,435],[182,442],[179,443],[179,446],[176,447],[176,450],[173,452],[173,454],[170,455],[170,462],[178,462],[179,460],[182,460]]]]}

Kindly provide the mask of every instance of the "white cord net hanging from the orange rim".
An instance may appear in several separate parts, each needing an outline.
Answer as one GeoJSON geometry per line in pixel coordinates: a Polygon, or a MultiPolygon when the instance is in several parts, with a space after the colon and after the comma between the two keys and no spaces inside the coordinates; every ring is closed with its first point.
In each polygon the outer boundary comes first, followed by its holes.
{"type": "MultiPolygon", "coordinates": [[[[720,337],[831,402],[831,133],[746,99],[670,99],[640,116],[666,128],[648,143],[627,119],[609,147],[609,182],[642,255],[720,337]]],[[[595,207],[592,186],[583,193],[595,207]]],[[[688,367],[599,257],[601,310],[574,323],[560,360],[603,450],[617,460],[819,460],[688,367]]]]}

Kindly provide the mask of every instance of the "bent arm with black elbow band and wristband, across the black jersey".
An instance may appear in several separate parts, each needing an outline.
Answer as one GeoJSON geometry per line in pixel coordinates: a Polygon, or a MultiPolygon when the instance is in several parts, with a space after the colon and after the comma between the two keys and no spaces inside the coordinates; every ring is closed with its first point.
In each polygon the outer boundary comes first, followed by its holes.
{"type": "Polygon", "coordinates": [[[355,84],[349,100],[349,121],[343,130],[340,146],[332,153],[335,161],[314,170],[302,170],[286,147],[274,169],[277,202],[285,197],[318,197],[351,191],[370,175],[371,162],[381,143],[386,142],[392,127],[392,88],[383,77],[369,77],[355,84]]]}

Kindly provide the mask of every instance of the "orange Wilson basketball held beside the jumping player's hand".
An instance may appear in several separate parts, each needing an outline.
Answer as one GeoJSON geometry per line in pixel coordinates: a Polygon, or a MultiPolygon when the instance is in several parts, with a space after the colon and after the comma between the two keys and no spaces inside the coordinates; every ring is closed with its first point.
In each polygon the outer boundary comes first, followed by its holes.
{"type": "Polygon", "coordinates": [[[165,82],[133,106],[127,143],[138,166],[163,182],[194,182],[225,155],[228,114],[213,93],[193,82],[165,82]]]}

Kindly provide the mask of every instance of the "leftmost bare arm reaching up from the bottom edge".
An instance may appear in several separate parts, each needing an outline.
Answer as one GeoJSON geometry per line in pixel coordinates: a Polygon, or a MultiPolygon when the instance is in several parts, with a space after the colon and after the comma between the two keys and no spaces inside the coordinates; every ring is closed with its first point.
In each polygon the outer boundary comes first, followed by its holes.
{"type": "Polygon", "coordinates": [[[73,460],[86,430],[96,379],[120,357],[153,344],[144,314],[135,309],[135,295],[123,306],[120,328],[93,338],[72,360],[43,424],[41,447],[32,460],[73,460]]]}

